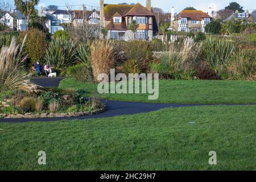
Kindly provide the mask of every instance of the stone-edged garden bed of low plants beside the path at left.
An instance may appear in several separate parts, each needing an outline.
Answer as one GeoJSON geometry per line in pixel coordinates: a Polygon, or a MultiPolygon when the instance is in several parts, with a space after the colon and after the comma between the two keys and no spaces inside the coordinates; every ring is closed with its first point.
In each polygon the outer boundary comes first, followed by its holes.
{"type": "Polygon", "coordinates": [[[41,88],[39,93],[21,90],[0,94],[0,118],[79,117],[105,111],[99,96],[85,90],[41,88]]]}

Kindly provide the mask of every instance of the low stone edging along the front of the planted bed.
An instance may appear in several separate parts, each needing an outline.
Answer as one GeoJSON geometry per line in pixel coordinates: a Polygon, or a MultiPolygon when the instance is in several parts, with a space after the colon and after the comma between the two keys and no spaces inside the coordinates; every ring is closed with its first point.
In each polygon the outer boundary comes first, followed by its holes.
{"type": "Polygon", "coordinates": [[[42,113],[42,114],[0,114],[0,118],[10,119],[10,118],[64,118],[64,117],[80,117],[83,115],[93,115],[103,113],[106,110],[106,106],[101,109],[92,110],[92,111],[80,111],[77,113],[42,113]]]}

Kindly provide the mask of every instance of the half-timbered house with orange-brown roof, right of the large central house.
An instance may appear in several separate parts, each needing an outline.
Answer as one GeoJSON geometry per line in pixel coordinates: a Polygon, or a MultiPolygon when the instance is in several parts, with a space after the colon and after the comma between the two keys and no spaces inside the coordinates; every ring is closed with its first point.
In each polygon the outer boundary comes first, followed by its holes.
{"type": "MultiPolygon", "coordinates": [[[[209,14],[212,12],[209,11],[209,14]]],[[[200,10],[183,10],[171,20],[171,29],[183,32],[205,32],[204,27],[213,18],[200,10]]]]}

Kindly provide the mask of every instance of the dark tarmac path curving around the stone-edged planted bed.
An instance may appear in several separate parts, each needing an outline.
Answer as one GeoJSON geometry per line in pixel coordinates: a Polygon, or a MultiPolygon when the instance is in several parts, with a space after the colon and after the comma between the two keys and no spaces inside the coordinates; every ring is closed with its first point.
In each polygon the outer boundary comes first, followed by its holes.
{"type": "MultiPolygon", "coordinates": [[[[32,78],[32,82],[43,87],[48,86],[59,86],[59,82],[63,80],[63,77],[56,78],[32,78]]],[[[26,118],[14,118],[14,119],[0,119],[0,122],[47,122],[47,121],[61,121],[61,120],[73,120],[73,119],[90,119],[90,118],[107,118],[114,117],[117,115],[127,115],[127,114],[138,114],[147,113],[150,111],[155,111],[163,109],[166,107],[191,107],[191,106],[207,106],[206,104],[147,104],[141,102],[122,102],[122,101],[109,101],[106,100],[107,110],[104,113],[94,114],[94,115],[84,115],[81,117],[71,117],[71,118],[38,118],[38,119],[26,119],[26,118]]],[[[217,105],[217,104],[216,104],[217,105]]],[[[237,104],[238,105],[238,104],[237,104]]]]}

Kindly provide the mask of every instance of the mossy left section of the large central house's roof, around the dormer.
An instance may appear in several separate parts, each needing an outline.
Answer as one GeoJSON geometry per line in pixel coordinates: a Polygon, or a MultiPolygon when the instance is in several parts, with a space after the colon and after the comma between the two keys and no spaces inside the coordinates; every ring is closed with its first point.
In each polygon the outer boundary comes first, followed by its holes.
{"type": "Polygon", "coordinates": [[[115,13],[119,13],[120,15],[125,15],[128,11],[130,11],[135,5],[104,5],[104,16],[105,20],[112,19],[112,16],[115,13]]]}

